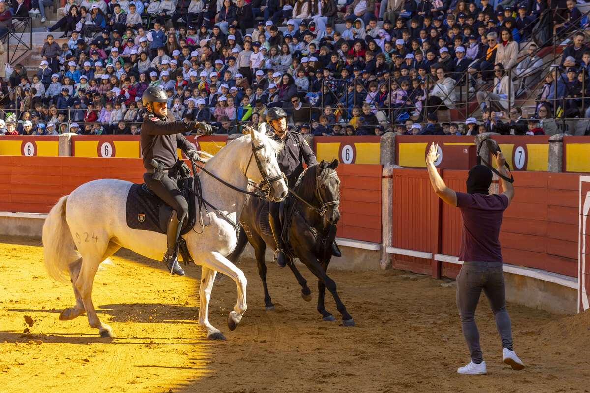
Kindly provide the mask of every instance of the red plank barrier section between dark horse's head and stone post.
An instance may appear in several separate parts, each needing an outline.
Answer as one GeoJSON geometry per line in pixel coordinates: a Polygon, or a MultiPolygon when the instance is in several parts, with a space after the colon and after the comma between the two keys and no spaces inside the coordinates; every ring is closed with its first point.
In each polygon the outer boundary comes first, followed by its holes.
{"type": "Polygon", "coordinates": [[[338,237],[381,243],[381,165],[340,164],[338,237]]]}

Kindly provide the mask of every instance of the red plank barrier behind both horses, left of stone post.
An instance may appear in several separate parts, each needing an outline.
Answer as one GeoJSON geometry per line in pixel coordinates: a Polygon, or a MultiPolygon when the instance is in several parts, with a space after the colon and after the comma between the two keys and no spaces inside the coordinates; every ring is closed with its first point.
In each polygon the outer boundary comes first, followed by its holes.
{"type": "MultiPolygon", "coordinates": [[[[337,236],[381,243],[381,165],[340,164],[337,236]]],[[[140,158],[0,156],[0,211],[48,213],[61,196],[96,179],[141,183],[140,158]]]]}

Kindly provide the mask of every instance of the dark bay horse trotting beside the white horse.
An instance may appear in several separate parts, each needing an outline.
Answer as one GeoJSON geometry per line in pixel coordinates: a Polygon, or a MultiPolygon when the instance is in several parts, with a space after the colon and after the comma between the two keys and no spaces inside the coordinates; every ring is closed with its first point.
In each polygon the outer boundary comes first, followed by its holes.
{"type": "MultiPolygon", "coordinates": [[[[299,260],[317,277],[317,311],[324,321],[335,321],[334,316],[326,311],[324,294],[326,288],[332,293],[336,308],[342,315],[345,326],[354,326],[352,316],[336,292],[336,283],[326,271],[332,259],[332,242],[336,236],[336,223],[340,219],[338,203],[340,200],[340,180],[336,174],[338,160],[323,161],[310,166],[303,173],[299,183],[284,203],[287,212],[283,217],[283,236],[286,240],[287,265],[301,285],[303,299],[311,300],[311,291],[301,276],[293,259],[299,260]]],[[[258,274],[264,288],[264,305],[273,310],[274,305],[268,293],[266,282],[267,268],[264,262],[266,246],[277,249],[274,237],[268,225],[268,202],[249,198],[240,216],[241,232],[232,255],[228,259],[235,262],[244,250],[247,242],[254,247],[258,274]]]]}

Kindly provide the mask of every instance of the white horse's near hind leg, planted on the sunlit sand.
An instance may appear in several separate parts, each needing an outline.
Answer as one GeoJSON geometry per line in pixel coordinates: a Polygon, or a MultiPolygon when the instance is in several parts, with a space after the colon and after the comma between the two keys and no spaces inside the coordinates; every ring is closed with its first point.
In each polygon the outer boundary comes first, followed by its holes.
{"type": "Polygon", "coordinates": [[[80,254],[82,255],[82,266],[76,280],[76,289],[80,293],[80,297],[84,303],[84,309],[86,309],[86,316],[88,317],[88,323],[90,326],[99,329],[101,337],[113,338],[115,337],[113,329],[111,329],[106,323],[100,322],[92,302],[94,276],[99,269],[100,263],[106,259],[104,255],[106,255],[106,252],[110,247],[106,244],[100,245],[98,240],[94,244],[91,243],[93,242],[81,243],[78,246],[80,254]]]}

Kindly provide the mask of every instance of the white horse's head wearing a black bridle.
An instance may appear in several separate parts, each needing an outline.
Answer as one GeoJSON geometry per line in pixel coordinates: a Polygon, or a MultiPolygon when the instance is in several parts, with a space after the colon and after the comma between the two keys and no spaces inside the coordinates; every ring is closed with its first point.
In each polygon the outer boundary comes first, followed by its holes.
{"type": "Polygon", "coordinates": [[[245,176],[255,183],[268,183],[270,196],[274,202],[279,202],[287,196],[287,183],[278,167],[277,153],[283,145],[267,135],[266,123],[261,123],[258,129],[248,127],[252,141],[252,155],[246,166],[245,176]]]}

